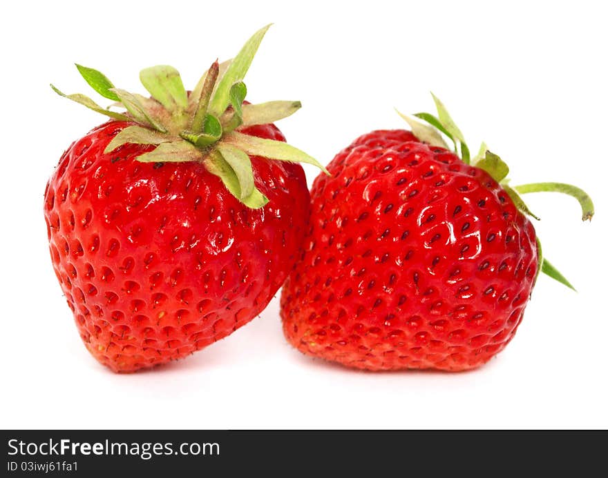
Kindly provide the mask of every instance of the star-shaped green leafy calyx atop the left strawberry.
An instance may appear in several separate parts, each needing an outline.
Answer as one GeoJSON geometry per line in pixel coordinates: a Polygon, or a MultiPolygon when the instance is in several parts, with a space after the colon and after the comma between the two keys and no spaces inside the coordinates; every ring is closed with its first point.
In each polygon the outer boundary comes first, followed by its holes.
{"type": "Polygon", "coordinates": [[[268,28],[269,25],[254,33],[234,59],[213,62],[191,94],[184,88],[178,70],[167,65],[140,72],[140,81],[151,98],[116,88],[102,72],[76,65],[93,90],[115,102],[108,108],[99,106],[84,94],[64,94],[53,85],[51,88],[60,96],[107,117],[136,123],[119,132],[104,153],[126,143],[155,145],[154,150],[140,155],[137,160],[144,163],[200,162],[218,176],[239,201],[249,208],[261,208],[268,199],[254,184],[250,155],[310,163],[327,173],[316,159],[287,143],[239,131],[247,126],[274,123],[301,108],[299,101],[243,104],[247,95],[243,78],[268,28]],[[115,112],[110,109],[112,106],[126,111],[115,112]]]}

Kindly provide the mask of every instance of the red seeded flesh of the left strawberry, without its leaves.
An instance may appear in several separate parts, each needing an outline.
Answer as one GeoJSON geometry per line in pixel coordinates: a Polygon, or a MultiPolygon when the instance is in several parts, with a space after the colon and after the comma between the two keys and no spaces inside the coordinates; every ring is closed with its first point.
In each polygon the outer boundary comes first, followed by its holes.
{"type": "MultiPolygon", "coordinates": [[[[251,210],[200,163],[141,163],[104,148],[131,123],[72,144],[48,181],[50,255],[86,348],[116,372],[180,359],[262,311],[296,259],[309,216],[301,166],[251,157],[269,203],[251,210]]],[[[274,125],[243,129],[285,141],[274,125]]]]}

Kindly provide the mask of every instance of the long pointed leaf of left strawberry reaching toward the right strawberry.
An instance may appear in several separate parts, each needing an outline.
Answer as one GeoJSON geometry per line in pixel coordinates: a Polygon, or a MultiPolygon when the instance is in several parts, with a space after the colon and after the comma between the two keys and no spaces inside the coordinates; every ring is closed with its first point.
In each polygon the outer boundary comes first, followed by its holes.
{"type": "Polygon", "coordinates": [[[233,131],[222,139],[222,142],[236,146],[240,150],[245,151],[248,155],[261,156],[269,159],[278,159],[279,161],[292,161],[298,163],[309,163],[323,172],[326,175],[330,173],[323,167],[319,161],[307,155],[305,152],[290,146],[283,141],[274,141],[274,139],[263,139],[243,133],[233,131]]]}

